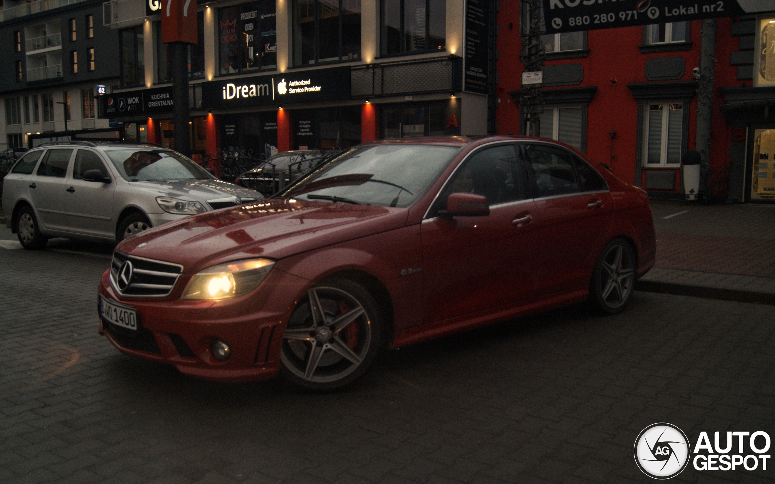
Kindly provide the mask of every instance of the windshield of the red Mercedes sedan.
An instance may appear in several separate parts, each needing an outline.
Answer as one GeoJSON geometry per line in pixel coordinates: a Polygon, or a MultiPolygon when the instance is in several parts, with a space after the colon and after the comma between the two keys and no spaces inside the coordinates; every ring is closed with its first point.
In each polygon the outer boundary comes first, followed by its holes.
{"type": "Polygon", "coordinates": [[[408,207],[457,153],[453,146],[384,144],[350,149],[281,196],[408,207]]]}

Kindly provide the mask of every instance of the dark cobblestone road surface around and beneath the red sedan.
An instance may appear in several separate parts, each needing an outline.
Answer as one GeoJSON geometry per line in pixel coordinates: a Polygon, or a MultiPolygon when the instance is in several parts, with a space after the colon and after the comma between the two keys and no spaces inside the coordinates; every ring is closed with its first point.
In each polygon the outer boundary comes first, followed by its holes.
{"type": "Polygon", "coordinates": [[[96,331],[109,248],[62,243],[96,256],[0,247],[3,484],[647,482],[649,424],[775,438],[771,306],[636,293],[614,317],[570,307],[388,352],[309,394],[120,354],[96,331]]]}

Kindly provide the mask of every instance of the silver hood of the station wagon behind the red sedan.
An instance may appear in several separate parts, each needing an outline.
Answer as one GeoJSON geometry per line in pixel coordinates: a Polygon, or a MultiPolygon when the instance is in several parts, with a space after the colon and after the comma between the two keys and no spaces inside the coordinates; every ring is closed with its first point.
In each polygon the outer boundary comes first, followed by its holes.
{"type": "Polygon", "coordinates": [[[188,198],[200,202],[228,197],[237,197],[240,201],[263,199],[257,191],[223,180],[132,181],[129,185],[157,197],[188,198]]]}

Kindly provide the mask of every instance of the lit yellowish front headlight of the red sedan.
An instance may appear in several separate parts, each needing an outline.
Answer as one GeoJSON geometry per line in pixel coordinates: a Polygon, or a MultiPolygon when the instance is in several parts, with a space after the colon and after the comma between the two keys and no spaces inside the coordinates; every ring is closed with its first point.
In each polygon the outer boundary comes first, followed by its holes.
{"type": "Polygon", "coordinates": [[[274,266],[274,260],[247,259],[199,271],[191,278],[182,299],[227,299],[256,289],[274,266]]]}

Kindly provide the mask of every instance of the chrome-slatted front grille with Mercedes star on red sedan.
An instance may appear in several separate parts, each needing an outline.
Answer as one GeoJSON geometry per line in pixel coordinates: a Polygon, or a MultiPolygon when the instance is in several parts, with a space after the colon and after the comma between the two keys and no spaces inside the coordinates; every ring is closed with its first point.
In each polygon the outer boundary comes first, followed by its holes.
{"type": "Polygon", "coordinates": [[[172,292],[183,266],[115,251],[110,282],[124,297],[165,297],[172,292]]]}

